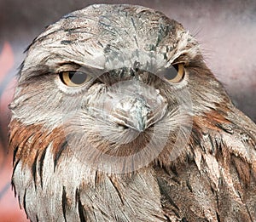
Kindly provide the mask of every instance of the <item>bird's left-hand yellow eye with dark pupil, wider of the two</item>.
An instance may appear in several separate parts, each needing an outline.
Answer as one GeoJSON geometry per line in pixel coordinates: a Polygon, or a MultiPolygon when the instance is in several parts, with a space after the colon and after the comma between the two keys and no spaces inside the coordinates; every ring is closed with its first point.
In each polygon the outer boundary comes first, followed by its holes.
{"type": "Polygon", "coordinates": [[[83,71],[61,71],[61,82],[69,87],[79,87],[87,83],[91,77],[83,71]]]}

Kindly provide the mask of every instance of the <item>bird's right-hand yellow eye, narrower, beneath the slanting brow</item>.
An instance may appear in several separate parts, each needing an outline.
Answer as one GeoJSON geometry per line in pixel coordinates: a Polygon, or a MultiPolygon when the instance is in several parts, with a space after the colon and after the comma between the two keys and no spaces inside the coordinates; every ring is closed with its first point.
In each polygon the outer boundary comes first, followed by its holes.
{"type": "Polygon", "coordinates": [[[163,73],[166,80],[171,83],[179,83],[184,77],[184,64],[177,63],[168,67],[163,73]]]}

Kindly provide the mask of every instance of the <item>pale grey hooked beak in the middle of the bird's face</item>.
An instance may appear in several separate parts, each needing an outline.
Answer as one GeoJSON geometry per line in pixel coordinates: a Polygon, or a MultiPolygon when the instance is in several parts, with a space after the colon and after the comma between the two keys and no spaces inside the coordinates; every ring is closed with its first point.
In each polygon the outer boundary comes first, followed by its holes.
{"type": "Polygon", "coordinates": [[[154,102],[153,106],[141,97],[125,98],[113,108],[114,122],[120,127],[132,128],[142,133],[154,122],[158,122],[166,113],[167,104],[164,100],[155,100],[154,102]]]}

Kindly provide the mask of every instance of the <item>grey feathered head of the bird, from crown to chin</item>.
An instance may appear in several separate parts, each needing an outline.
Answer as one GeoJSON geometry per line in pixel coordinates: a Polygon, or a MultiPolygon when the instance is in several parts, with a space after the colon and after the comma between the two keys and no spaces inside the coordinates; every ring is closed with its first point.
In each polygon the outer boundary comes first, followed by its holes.
{"type": "Polygon", "coordinates": [[[178,157],[193,117],[225,100],[200,45],[177,21],[143,7],[93,5],[33,41],[10,107],[13,128],[53,143],[55,160],[65,147],[84,164],[120,173],[178,157]]]}

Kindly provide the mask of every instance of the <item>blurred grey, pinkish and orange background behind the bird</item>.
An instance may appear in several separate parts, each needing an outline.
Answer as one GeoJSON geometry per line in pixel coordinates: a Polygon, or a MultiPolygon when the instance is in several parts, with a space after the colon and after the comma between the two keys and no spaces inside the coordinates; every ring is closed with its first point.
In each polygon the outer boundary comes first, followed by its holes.
{"type": "Polygon", "coordinates": [[[92,3],[131,3],[160,10],[201,43],[207,65],[235,105],[256,122],[256,1],[0,0],[0,220],[26,221],[11,191],[9,110],[23,51],[62,15],[92,3]]]}

